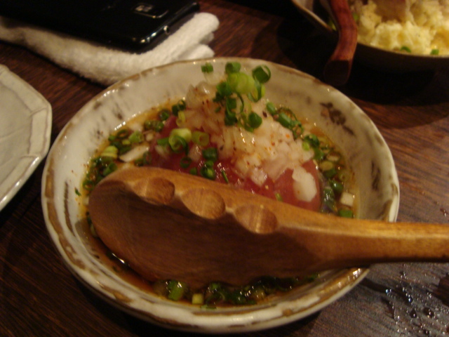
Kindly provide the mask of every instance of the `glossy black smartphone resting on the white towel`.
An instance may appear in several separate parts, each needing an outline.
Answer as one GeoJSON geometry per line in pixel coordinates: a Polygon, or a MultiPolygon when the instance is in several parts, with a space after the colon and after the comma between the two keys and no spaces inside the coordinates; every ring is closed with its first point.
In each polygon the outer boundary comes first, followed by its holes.
{"type": "Polygon", "coordinates": [[[108,46],[154,48],[199,11],[194,0],[0,0],[0,15],[108,46]]]}

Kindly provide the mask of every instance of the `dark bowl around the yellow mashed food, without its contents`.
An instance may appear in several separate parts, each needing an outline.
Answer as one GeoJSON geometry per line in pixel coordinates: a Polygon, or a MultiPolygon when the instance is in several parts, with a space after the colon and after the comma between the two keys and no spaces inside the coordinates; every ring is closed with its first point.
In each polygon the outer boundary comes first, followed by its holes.
{"type": "MultiPolygon", "coordinates": [[[[337,33],[328,25],[330,14],[325,6],[325,0],[291,0],[297,9],[312,24],[328,35],[337,39],[337,33]]],[[[416,55],[387,51],[382,48],[357,44],[355,60],[369,67],[387,72],[412,72],[424,70],[437,70],[449,67],[448,55],[416,55]]]]}

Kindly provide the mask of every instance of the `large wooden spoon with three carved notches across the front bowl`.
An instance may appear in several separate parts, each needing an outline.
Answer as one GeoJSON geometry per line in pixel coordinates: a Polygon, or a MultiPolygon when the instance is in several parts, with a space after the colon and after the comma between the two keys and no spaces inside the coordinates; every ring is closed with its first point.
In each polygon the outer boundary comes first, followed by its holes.
{"type": "Polygon", "coordinates": [[[123,169],[95,187],[102,241],[147,279],[212,281],[393,261],[449,261],[449,226],[328,216],[206,178],[123,169]]]}

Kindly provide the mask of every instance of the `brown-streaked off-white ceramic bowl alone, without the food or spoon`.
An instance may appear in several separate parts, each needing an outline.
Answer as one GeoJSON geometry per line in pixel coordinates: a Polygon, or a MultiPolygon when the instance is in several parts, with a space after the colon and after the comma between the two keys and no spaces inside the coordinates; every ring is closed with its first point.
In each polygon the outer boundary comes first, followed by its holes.
{"type": "MultiPolygon", "coordinates": [[[[228,61],[241,62],[248,70],[268,65],[272,79],[267,97],[316,121],[349,159],[360,188],[359,215],[396,220],[399,188],[391,153],[373,122],[349,98],[307,74],[271,62],[245,58],[207,61],[221,72],[228,61]]],[[[293,322],[343,296],[368,270],[323,272],[313,283],[267,303],[205,310],[160,298],[121,278],[98,258],[83,232],[75,190],[95,149],[123,121],[168,98],[182,98],[190,84],[203,80],[200,69],[205,62],[177,62],[136,74],[107,88],[76,113],[55,140],[43,173],[42,206],[48,232],[69,270],[88,288],[154,324],[182,331],[234,333],[293,322]]]]}

